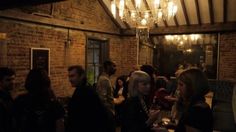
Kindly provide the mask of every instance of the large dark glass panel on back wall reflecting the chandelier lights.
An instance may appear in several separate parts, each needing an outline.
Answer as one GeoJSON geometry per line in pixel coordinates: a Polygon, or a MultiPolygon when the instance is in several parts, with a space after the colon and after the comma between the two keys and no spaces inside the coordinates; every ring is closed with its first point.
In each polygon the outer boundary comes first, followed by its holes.
{"type": "Polygon", "coordinates": [[[197,67],[209,79],[217,78],[217,34],[182,34],[152,37],[154,65],[160,74],[175,76],[178,68],[197,67]]]}

